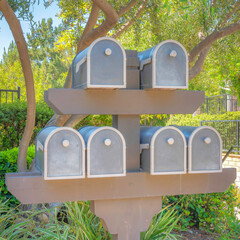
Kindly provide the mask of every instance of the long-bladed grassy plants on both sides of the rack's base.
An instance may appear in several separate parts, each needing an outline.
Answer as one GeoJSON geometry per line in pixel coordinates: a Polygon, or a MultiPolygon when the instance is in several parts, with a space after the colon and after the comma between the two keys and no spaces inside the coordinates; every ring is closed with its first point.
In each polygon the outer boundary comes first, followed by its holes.
{"type": "MultiPolygon", "coordinates": [[[[55,209],[54,217],[50,214],[52,210],[43,207],[23,212],[0,202],[0,239],[112,239],[90,211],[89,202],[64,203],[58,214],[55,209]]],[[[171,233],[179,220],[175,215],[173,210],[163,209],[153,218],[143,239],[176,239],[177,235],[171,233]]]]}

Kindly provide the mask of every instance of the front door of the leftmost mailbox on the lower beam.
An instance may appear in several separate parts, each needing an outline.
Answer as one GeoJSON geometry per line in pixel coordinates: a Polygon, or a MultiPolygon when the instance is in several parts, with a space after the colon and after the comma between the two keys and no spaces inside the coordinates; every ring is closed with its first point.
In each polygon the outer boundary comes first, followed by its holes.
{"type": "Polygon", "coordinates": [[[84,141],[78,132],[55,131],[45,150],[45,179],[83,178],[84,141]]]}

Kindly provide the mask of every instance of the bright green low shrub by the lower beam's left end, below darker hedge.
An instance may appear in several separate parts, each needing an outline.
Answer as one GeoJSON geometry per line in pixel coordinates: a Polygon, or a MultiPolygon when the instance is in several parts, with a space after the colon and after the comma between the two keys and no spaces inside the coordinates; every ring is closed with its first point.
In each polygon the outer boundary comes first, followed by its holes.
{"type": "MultiPolygon", "coordinates": [[[[18,204],[18,200],[7,190],[5,185],[5,174],[17,171],[18,148],[0,152],[0,201],[8,200],[8,204],[13,206],[18,204]]],[[[27,163],[30,166],[35,156],[35,147],[28,148],[27,163]]]]}

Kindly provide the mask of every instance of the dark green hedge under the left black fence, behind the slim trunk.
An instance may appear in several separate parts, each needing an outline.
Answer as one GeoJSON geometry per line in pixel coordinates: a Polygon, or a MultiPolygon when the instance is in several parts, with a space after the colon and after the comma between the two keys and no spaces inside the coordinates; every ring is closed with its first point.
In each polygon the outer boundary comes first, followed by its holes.
{"type": "MultiPolygon", "coordinates": [[[[31,139],[43,128],[52,117],[53,111],[44,103],[36,106],[36,126],[31,139]]],[[[0,105],[0,150],[7,150],[19,146],[27,116],[26,102],[14,102],[0,105]]]]}

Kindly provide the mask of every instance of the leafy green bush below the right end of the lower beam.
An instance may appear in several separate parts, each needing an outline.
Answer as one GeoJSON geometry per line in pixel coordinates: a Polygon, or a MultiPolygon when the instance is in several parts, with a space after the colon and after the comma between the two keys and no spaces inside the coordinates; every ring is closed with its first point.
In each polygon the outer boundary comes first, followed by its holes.
{"type": "MultiPolygon", "coordinates": [[[[236,231],[232,231],[231,227],[234,222],[240,224],[235,216],[235,208],[240,207],[239,194],[239,189],[231,185],[223,193],[165,197],[164,204],[177,203],[174,208],[182,215],[179,223],[183,228],[195,226],[211,232],[235,234],[236,231]]],[[[240,237],[240,232],[238,234],[240,237]]]]}

